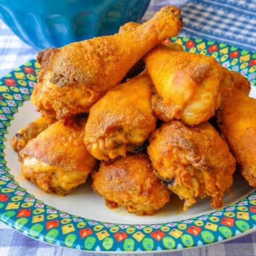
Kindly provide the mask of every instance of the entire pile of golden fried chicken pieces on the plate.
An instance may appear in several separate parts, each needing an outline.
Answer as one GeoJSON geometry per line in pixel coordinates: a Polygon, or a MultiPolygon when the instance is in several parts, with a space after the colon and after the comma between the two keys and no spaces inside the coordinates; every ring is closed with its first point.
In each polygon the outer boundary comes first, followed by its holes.
{"type": "Polygon", "coordinates": [[[165,6],[115,35],[39,52],[41,117],[11,140],[24,177],[66,195],[91,173],[108,207],[137,215],[155,214],[171,193],[185,211],[206,196],[221,207],[235,170],[256,187],[250,82],[162,43],[182,26],[180,10],[165,6]]]}

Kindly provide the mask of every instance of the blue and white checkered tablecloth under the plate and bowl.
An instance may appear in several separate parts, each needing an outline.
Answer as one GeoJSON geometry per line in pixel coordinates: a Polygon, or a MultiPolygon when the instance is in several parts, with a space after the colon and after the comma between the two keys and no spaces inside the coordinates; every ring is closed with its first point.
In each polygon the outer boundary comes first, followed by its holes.
{"type": "MultiPolygon", "coordinates": [[[[256,0],[151,0],[144,20],[160,7],[172,4],[181,7],[186,27],[181,36],[200,37],[229,43],[256,52],[256,0]]],[[[0,20],[0,77],[36,57],[37,51],[23,43],[0,20]]],[[[37,241],[0,222],[0,256],[93,256],[37,241]]],[[[106,255],[106,254],[105,254],[106,255]]],[[[149,254],[146,254],[149,255],[149,254]]],[[[187,251],[150,255],[256,255],[256,233],[231,241],[187,251]]]]}

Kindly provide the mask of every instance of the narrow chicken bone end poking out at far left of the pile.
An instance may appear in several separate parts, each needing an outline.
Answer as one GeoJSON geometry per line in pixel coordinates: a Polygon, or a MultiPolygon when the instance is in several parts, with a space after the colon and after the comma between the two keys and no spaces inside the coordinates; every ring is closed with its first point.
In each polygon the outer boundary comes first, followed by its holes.
{"type": "Polygon", "coordinates": [[[11,144],[14,151],[20,151],[24,148],[28,141],[37,137],[39,133],[44,131],[48,127],[46,119],[38,117],[34,122],[27,124],[21,128],[12,138],[11,144]]]}

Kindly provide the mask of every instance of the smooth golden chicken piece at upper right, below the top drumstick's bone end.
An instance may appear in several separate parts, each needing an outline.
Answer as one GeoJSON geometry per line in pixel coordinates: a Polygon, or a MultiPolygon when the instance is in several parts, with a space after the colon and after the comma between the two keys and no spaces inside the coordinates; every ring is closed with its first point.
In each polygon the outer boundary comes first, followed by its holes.
{"type": "Polygon", "coordinates": [[[207,121],[220,106],[223,67],[213,57],[158,45],[145,55],[156,87],[152,98],[158,118],[189,125],[207,121]],[[178,50],[178,51],[177,51],[178,50]]]}

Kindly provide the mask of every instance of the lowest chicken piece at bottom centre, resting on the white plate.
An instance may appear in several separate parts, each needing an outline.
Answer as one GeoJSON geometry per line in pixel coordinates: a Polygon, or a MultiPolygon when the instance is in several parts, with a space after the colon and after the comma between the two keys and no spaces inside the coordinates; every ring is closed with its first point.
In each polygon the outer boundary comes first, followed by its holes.
{"type": "Polygon", "coordinates": [[[123,206],[139,216],[153,215],[170,199],[170,190],[153,173],[146,155],[127,155],[113,162],[102,162],[99,172],[93,172],[92,177],[94,191],[105,198],[110,208],[123,206]]]}

